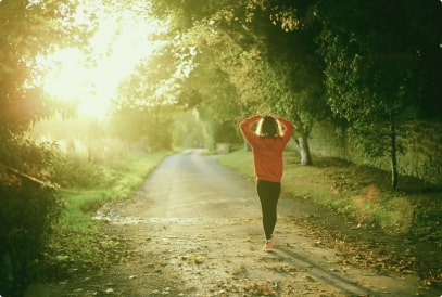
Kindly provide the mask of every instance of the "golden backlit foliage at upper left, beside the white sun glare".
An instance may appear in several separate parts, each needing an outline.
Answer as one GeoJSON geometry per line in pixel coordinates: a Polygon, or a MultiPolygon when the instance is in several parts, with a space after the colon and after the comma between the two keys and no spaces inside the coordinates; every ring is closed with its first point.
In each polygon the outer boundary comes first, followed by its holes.
{"type": "MultiPolygon", "coordinates": [[[[70,20],[72,1],[4,0],[0,2],[0,137],[26,130],[54,111],[64,111],[45,96],[38,79],[45,69],[37,59],[55,43],[83,42],[81,29],[70,20]]],[[[77,24],[76,24],[77,25],[77,24]]]]}

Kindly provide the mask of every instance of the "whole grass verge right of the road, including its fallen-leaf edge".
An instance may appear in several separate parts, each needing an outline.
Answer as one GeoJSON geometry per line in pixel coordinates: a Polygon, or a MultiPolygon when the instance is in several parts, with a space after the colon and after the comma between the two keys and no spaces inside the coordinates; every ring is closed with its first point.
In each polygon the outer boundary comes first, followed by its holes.
{"type": "MultiPolygon", "coordinates": [[[[219,162],[253,178],[252,153],[236,151],[222,156],[219,162]]],[[[314,237],[337,248],[342,263],[379,270],[415,271],[424,286],[442,286],[442,191],[407,177],[400,178],[400,191],[391,190],[390,173],[355,166],[348,162],[314,157],[314,166],[299,165],[295,152],[285,152],[286,168],[282,191],[293,198],[303,198],[331,208],[353,220],[353,230],[380,228],[394,236],[390,243],[351,237],[339,230],[328,230],[325,222],[313,220],[303,223],[314,237]],[[313,228],[313,229],[312,229],[313,228]],[[317,228],[317,229],[316,229],[317,228]],[[339,238],[337,241],[337,238],[339,238]],[[411,250],[413,249],[411,257],[411,250]],[[362,261],[355,255],[363,255],[362,261]],[[386,256],[389,255],[389,256],[386,256]]],[[[345,220],[346,221],[346,220],[345,220]]],[[[367,234],[369,234],[368,232],[367,234]]]]}

